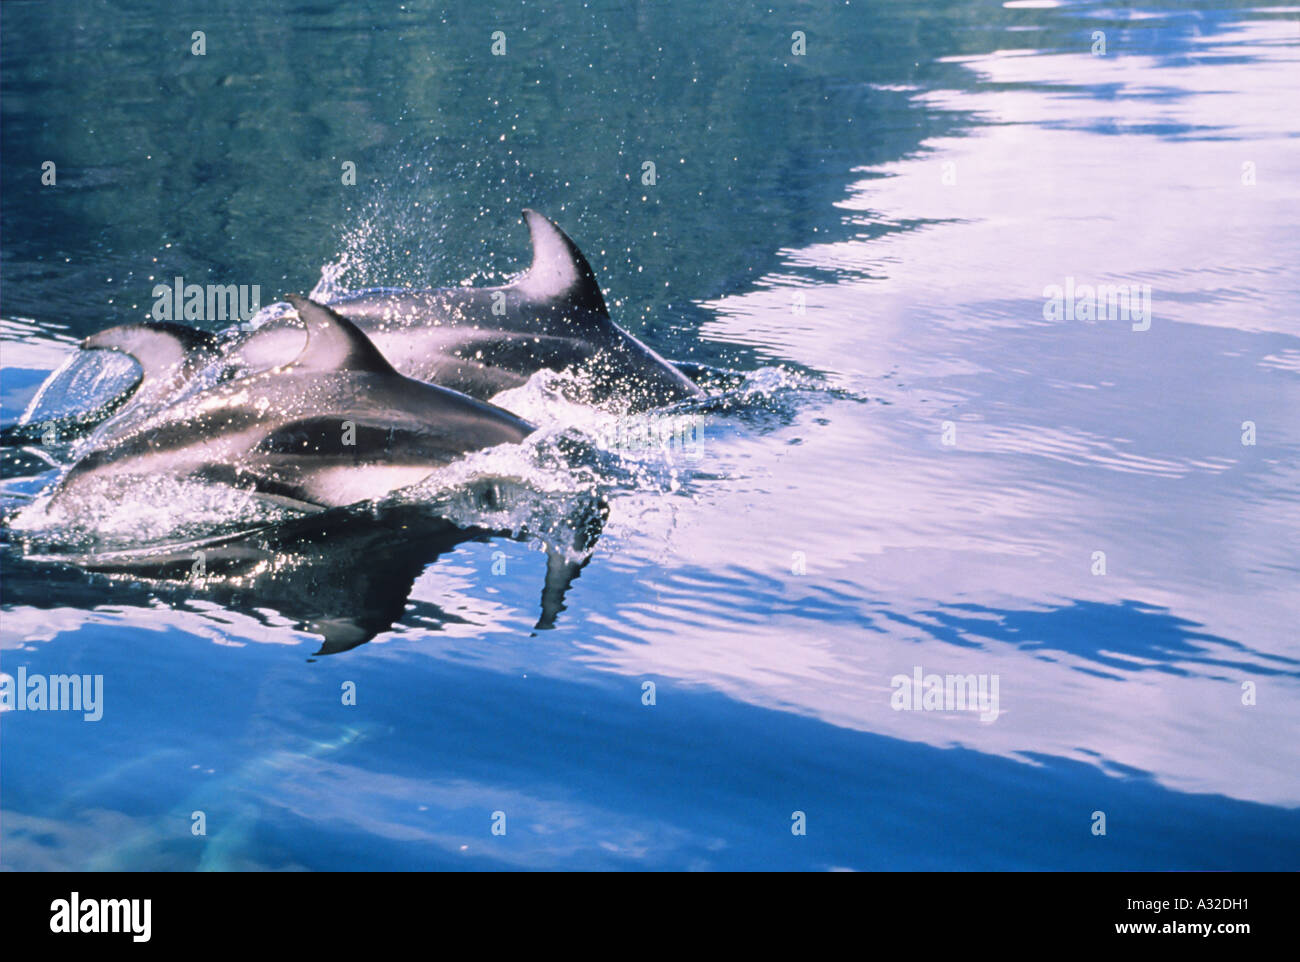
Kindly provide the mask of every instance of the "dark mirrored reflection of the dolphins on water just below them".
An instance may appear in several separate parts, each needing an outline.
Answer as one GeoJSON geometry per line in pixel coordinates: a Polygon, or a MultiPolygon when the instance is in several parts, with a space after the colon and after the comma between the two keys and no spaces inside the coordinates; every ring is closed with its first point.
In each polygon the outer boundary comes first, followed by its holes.
{"type": "MultiPolygon", "coordinates": [[[[585,515],[576,550],[589,556],[602,525],[599,508],[585,515]]],[[[439,556],[493,537],[506,536],[463,528],[420,506],[396,506],[330,511],[178,550],[88,555],[75,564],[23,559],[14,546],[4,545],[3,601],[82,610],[147,607],[152,599],[173,607],[204,602],[268,625],[270,610],[295,629],[320,636],[316,654],[330,655],[364,645],[400,621],[416,578],[439,556]]],[[[538,629],[555,627],[566,593],[585,564],[547,549],[538,629]]],[[[218,615],[204,614],[220,621],[218,615]]],[[[436,604],[420,606],[422,628],[450,623],[467,621],[436,604]]]]}

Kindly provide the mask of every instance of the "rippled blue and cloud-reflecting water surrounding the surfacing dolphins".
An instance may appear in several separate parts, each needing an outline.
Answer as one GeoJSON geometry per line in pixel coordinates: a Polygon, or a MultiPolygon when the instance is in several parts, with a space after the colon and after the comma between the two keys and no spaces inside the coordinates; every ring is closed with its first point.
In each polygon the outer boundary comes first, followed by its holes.
{"type": "Polygon", "coordinates": [[[4,5],[5,422],[155,278],[493,282],[525,205],[731,373],[698,456],[511,465],[515,538],[363,515],[199,590],[8,526],[3,671],[104,702],[4,712],[3,867],[1300,868],[1300,8],[697,6],[4,5]]]}

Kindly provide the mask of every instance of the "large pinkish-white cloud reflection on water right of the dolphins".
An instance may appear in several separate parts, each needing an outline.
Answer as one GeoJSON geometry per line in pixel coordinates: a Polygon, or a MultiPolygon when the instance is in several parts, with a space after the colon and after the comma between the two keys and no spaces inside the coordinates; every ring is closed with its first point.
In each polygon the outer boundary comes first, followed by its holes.
{"type": "Polygon", "coordinates": [[[1201,47],[1173,64],[1114,46],[965,60],[987,83],[926,99],[988,126],[863,170],[842,204],[910,229],[786,252],[835,283],[774,277],[706,306],[703,337],[889,403],[728,438],[740,480],[701,486],[659,611],[601,625],[593,663],[905,740],[1300,802],[1300,385],[1275,363],[1300,333],[1300,49],[1290,21],[1201,47]],[[1070,276],[1149,283],[1150,330],[1044,321],[1044,286],[1070,276]],[[728,610],[750,592],[766,602],[728,610]],[[1004,715],[892,711],[890,676],[916,664],[998,673],[1004,715]]]}

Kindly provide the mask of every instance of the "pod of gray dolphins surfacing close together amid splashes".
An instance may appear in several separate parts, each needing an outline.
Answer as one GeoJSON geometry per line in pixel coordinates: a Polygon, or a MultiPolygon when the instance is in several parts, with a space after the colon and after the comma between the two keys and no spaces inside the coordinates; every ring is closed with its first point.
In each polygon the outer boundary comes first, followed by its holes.
{"type": "Polygon", "coordinates": [[[702,391],[619,329],[577,246],[524,211],[532,265],[499,287],[364,292],[233,339],[169,322],[87,338],[142,377],[58,478],[51,504],[96,484],[169,476],[318,511],[382,498],[533,425],[489,399],[542,369],[589,399],[645,411],[702,391]],[[200,380],[200,372],[216,377],[200,380]]]}

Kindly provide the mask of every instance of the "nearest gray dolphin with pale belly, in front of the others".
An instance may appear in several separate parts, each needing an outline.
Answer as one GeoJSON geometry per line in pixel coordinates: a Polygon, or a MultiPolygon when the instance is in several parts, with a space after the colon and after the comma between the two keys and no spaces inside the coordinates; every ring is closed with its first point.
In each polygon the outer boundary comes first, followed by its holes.
{"type": "MultiPolygon", "coordinates": [[[[517,443],[533,432],[507,411],[399,374],[329,308],[295,296],[290,303],[307,329],[296,358],[112,425],[64,474],[52,503],[100,481],[161,474],[224,481],[298,506],[339,507],[380,498],[469,451],[517,443]]],[[[120,337],[108,346],[133,350],[120,337]]],[[[155,367],[153,359],[136,360],[146,372],[155,367]]]]}

